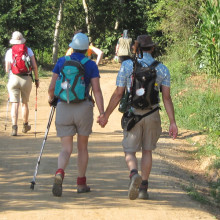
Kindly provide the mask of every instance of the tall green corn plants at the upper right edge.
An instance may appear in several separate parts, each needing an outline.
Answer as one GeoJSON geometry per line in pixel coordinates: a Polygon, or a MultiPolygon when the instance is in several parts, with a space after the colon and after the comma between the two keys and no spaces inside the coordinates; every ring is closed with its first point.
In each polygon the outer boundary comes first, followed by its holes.
{"type": "Polygon", "coordinates": [[[220,77],[220,1],[203,3],[195,34],[197,64],[209,75],[220,77]]]}

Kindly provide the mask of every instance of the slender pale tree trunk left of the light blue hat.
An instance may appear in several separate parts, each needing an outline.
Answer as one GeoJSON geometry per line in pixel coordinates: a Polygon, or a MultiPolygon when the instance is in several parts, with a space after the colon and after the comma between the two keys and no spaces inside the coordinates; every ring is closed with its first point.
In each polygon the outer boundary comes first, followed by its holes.
{"type": "Polygon", "coordinates": [[[57,62],[57,57],[58,57],[58,43],[59,43],[60,25],[61,25],[61,21],[62,21],[63,5],[64,5],[64,0],[61,0],[60,1],[59,12],[58,12],[58,15],[57,15],[55,32],[54,32],[53,64],[55,64],[57,62]]]}

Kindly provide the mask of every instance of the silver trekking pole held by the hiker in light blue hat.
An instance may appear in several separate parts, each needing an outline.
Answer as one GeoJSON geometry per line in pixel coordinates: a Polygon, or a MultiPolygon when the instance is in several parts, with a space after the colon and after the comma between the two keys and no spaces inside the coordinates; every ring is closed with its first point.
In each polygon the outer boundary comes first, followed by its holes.
{"type": "Polygon", "coordinates": [[[43,150],[44,150],[44,145],[45,145],[46,140],[47,140],[47,135],[49,133],[49,129],[50,129],[50,125],[51,125],[51,122],[52,122],[52,119],[53,119],[54,112],[55,112],[55,107],[51,106],[50,116],[49,116],[49,120],[48,120],[48,124],[47,124],[47,129],[45,131],[45,136],[44,136],[43,144],[42,144],[42,147],[41,147],[40,155],[39,155],[38,160],[37,160],[37,165],[36,165],[36,168],[35,168],[35,171],[34,171],[33,180],[31,181],[30,188],[32,190],[34,190],[34,185],[36,184],[35,181],[36,181],[36,176],[37,176],[37,172],[38,172],[38,167],[40,165],[40,159],[41,159],[41,156],[42,156],[42,153],[43,153],[43,150]]]}

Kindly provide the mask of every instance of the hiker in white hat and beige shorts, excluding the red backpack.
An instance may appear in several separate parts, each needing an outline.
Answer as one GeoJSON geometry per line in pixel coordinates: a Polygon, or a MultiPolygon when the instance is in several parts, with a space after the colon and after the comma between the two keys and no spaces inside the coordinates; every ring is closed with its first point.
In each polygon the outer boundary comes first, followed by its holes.
{"type": "MultiPolygon", "coordinates": [[[[16,45],[16,44],[24,44],[26,42],[26,39],[23,37],[23,35],[19,31],[15,31],[12,34],[12,39],[10,40],[10,44],[16,45]]],[[[38,69],[36,60],[34,57],[34,53],[30,48],[27,48],[28,56],[30,57],[30,64],[34,71],[35,75],[35,85],[36,88],[39,87],[39,78],[38,78],[38,69]]],[[[19,73],[14,74],[11,70],[11,65],[13,63],[12,59],[12,49],[9,49],[6,52],[5,55],[5,71],[8,73],[8,93],[9,93],[9,99],[12,103],[11,106],[11,118],[12,118],[12,136],[17,136],[18,131],[18,109],[19,109],[19,103],[21,102],[21,109],[22,109],[22,119],[23,119],[23,133],[27,133],[29,130],[31,130],[31,125],[28,124],[28,117],[29,117],[29,108],[28,108],[28,102],[29,97],[32,89],[32,77],[31,72],[28,73],[19,73]],[[21,99],[20,99],[21,97],[21,99]]]]}

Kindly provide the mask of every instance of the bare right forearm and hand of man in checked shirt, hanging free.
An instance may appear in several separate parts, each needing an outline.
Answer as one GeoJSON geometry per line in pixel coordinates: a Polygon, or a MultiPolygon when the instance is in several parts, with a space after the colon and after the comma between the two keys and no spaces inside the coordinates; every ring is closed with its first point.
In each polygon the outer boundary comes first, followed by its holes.
{"type": "Polygon", "coordinates": [[[169,127],[169,135],[175,139],[178,135],[178,128],[175,121],[175,115],[174,115],[174,107],[172,98],[170,96],[170,88],[167,86],[162,86],[162,98],[164,107],[166,109],[169,121],[170,121],[170,127],[169,127]]]}

